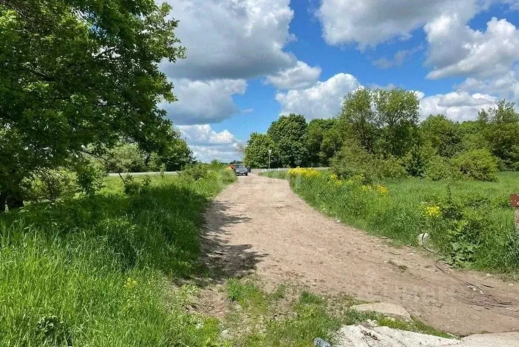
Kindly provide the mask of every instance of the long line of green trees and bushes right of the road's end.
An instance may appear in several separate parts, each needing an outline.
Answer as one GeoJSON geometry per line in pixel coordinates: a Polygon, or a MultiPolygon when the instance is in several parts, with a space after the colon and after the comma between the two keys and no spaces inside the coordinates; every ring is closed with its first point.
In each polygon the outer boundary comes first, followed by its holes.
{"type": "Polygon", "coordinates": [[[252,133],[244,163],[267,168],[268,149],[271,168],[332,166],[344,177],[495,181],[498,170],[519,170],[519,114],[502,100],[476,120],[438,114],[420,121],[413,91],[358,89],[345,96],[335,117],[307,122],[303,115],[282,115],[266,133],[252,133]]]}

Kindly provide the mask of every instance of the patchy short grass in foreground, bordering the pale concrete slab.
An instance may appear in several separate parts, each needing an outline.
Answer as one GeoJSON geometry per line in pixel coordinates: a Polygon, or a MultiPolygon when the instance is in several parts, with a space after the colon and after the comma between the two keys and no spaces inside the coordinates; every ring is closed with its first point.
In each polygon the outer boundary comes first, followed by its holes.
{"type": "Polygon", "coordinates": [[[261,290],[251,280],[231,280],[227,297],[240,303],[224,324],[236,335],[238,346],[309,346],[316,337],[337,342],[336,331],[344,325],[368,321],[380,326],[416,331],[446,338],[453,335],[431,328],[412,318],[397,320],[374,312],[351,309],[359,301],[349,296],[322,296],[281,285],[272,293],[261,290]],[[280,289],[282,288],[282,289],[280,289]],[[279,292],[283,292],[281,297],[279,292]],[[243,331],[248,331],[243,334],[243,331]]]}

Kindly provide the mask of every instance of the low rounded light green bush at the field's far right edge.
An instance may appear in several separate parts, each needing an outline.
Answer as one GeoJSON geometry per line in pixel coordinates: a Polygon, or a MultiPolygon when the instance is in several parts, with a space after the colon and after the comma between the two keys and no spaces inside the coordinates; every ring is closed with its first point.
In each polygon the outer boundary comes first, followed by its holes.
{"type": "Polygon", "coordinates": [[[486,149],[472,149],[453,159],[456,169],[478,181],[497,181],[497,159],[486,149]]]}

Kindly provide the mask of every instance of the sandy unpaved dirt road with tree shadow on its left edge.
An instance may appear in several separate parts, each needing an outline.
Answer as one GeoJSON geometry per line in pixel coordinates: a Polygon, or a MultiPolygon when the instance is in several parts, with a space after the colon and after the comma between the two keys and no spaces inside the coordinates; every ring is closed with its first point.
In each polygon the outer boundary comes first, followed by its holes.
{"type": "Polygon", "coordinates": [[[313,210],[281,179],[239,177],[216,197],[204,231],[209,263],[227,276],[255,273],[267,287],[294,282],[400,304],[463,336],[519,330],[519,283],[448,270],[425,251],[392,247],[313,210]]]}

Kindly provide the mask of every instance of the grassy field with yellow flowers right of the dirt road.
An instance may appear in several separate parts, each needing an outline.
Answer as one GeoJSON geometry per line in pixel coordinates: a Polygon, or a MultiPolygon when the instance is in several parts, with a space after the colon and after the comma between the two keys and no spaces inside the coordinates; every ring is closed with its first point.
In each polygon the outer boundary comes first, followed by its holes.
{"type": "Polygon", "coordinates": [[[508,205],[510,193],[519,191],[519,173],[500,173],[497,183],[407,178],[378,186],[322,172],[264,175],[290,179],[292,189],[318,210],[394,243],[418,245],[418,235],[427,232],[430,246],[453,265],[519,270],[519,235],[508,205]]]}

